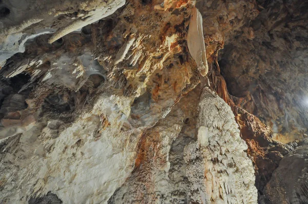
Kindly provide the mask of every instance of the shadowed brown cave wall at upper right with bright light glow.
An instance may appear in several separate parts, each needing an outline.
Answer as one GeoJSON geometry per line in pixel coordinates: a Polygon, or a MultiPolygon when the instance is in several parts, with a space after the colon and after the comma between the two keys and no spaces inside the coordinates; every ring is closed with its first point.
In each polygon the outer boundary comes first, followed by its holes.
{"type": "Polygon", "coordinates": [[[220,66],[242,107],[290,142],[307,133],[307,1],[257,1],[258,16],[228,42],[220,66]]]}

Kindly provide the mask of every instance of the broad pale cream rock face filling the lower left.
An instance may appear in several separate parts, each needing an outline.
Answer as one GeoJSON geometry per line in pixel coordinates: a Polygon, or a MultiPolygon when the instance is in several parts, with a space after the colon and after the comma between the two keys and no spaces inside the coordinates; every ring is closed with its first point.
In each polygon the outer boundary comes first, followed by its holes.
{"type": "Polygon", "coordinates": [[[26,202],[49,191],[64,203],[107,201],[132,171],[142,133],[125,128],[129,107],[129,98],[106,90],[72,123],[64,113],[42,118],[2,141],[3,201],[26,202]]]}

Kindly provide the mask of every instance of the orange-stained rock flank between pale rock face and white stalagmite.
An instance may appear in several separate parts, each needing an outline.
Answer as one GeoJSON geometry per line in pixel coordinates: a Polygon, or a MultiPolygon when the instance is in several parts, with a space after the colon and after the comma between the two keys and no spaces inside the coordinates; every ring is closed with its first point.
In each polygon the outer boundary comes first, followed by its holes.
{"type": "Polygon", "coordinates": [[[189,202],[184,148],[197,136],[199,92],[199,87],[189,92],[145,132],[134,171],[109,203],[189,202]]]}

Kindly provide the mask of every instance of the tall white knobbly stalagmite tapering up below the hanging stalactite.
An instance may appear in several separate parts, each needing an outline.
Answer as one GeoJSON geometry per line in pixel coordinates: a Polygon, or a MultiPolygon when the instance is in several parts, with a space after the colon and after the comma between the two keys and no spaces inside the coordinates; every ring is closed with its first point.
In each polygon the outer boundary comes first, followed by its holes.
{"type": "Polygon", "coordinates": [[[184,149],[191,197],[196,203],[257,203],[254,167],[246,149],[230,107],[204,88],[198,140],[184,149]]]}

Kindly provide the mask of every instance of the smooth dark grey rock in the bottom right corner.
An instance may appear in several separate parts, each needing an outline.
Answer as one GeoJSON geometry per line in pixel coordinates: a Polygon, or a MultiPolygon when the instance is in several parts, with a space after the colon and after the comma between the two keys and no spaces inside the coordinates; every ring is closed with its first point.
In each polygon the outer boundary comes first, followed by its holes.
{"type": "Polygon", "coordinates": [[[293,142],[296,149],[287,154],[264,189],[261,203],[306,203],[308,141],[293,142]]]}

